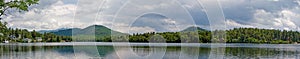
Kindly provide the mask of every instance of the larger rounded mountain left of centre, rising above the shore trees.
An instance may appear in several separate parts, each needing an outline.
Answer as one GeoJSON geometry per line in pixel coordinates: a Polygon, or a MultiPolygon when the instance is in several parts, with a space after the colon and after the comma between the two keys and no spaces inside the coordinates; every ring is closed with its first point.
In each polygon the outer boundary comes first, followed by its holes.
{"type": "Polygon", "coordinates": [[[96,35],[96,36],[103,37],[103,36],[110,36],[111,32],[123,34],[121,32],[111,30],[102,25],[92,25],[92,26],[88,26],[83,29],[80,29],[80,28],[65,29],[65,30],[51,32],[51,33],[54,33],[56,35],[61,35],[61,36],[96,35]]]}

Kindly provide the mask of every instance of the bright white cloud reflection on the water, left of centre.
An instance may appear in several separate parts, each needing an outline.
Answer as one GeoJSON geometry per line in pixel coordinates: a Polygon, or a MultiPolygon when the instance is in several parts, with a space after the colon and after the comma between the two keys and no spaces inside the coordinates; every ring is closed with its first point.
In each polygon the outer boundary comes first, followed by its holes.
{"type": "Polygon", "coordinates": [[[117,47],[115,53],[105,56],[107,59],[124,58],[124,59],[162,59],[166,48],[155,47],[117,47]],[[132,50],[129,50],[132,49],[132,50]]]}

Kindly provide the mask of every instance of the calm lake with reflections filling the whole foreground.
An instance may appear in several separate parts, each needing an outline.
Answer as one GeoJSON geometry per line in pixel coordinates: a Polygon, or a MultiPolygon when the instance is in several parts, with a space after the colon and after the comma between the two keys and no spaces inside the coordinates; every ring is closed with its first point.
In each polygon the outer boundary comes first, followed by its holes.
{"type": "Polygon", "coordinates": [[[0,43],[0,59],[300,59],[299,44],[0,43]],[[128,46],[130,45],[130,46],[128,46]]]}

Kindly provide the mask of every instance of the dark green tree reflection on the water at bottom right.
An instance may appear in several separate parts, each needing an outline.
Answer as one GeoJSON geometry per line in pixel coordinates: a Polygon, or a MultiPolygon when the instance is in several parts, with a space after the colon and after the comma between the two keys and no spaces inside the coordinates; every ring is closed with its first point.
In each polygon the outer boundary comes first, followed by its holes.
{"type": "Polygon", "coordinates": [[[293,56],[299,54],[296,51],[287,51],[285,49],[279,50],[276,48],[226,48],[225,55],[226,57],[236,57],[238,59],[247,59],[247,58],[276,58],[281,56],[293,56]]]}

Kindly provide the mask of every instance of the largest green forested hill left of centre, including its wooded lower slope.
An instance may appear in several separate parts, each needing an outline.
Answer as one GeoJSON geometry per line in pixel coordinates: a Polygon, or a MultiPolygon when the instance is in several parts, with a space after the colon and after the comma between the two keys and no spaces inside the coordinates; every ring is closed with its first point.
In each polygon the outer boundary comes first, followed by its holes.
{"type": "Polygon", "coordinates": [[[109,39],[112,32],[115,34],[124,34],[118,31],[111,30],[102,25],[92,25],[83,29],[80,28],[65,29],[65,30],[59,30],[50,33],[54,33],[60,36],[73,36],[74,41],[85,42],[85,41],[94,41],[95,39],[97,41],[100,40],[103,41],[103,39],[109,39]]]}

